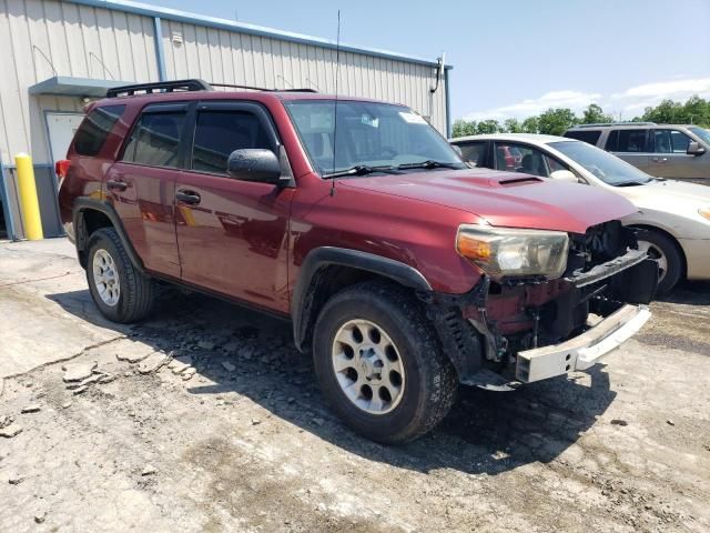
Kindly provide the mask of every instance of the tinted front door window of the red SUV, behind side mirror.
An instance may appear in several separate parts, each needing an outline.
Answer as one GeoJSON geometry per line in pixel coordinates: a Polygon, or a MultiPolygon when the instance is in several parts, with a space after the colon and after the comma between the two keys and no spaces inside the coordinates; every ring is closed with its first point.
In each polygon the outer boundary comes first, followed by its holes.
{"type": "Polygon", "coordinates": [[[201,111],[197,114],[192,169],[226,174],[226,161],[234,150],[273,150],[256,115],[248,111],[201,111]]]}

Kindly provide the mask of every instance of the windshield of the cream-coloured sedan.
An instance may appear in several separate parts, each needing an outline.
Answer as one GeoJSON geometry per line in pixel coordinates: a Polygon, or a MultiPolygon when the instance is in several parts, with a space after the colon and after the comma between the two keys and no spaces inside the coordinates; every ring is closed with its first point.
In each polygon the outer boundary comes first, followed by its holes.
{"type": "Polygon", "coordinates": [[[610,185],[648,183],[652,180],[646,172],[586,142],[559,141],[549,145],[610,185]]]}

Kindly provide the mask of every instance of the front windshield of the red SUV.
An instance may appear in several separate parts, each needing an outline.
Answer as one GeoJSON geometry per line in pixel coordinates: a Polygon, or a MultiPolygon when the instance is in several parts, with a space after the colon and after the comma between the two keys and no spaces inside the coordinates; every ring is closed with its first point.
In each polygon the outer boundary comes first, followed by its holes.
{"type": "Polygon", "coordinates": [[[353,100],[284,104],[311,162],[324,177],[406,171],[400,165],[466,168],[446,139],[409,108],[353,100]]]}

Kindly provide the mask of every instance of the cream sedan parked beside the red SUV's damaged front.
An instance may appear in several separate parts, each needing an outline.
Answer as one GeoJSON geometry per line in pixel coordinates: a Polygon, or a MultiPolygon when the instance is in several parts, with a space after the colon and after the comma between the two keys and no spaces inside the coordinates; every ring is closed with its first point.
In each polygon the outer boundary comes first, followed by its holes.
{"type": "Polygon", "coordinates": [[[499,150],[518,149],[524,154],[519,172],[580,181],[627,198],[638,211],[623,223],[645,230],[639,243],[659,263],[659,294],[683,278],[710,279],[710,189],[655,179],[604,150],[562,137],[500,133],[452,142],[465,159],[473,153],[478,167],[507,169],[499,150]]]}

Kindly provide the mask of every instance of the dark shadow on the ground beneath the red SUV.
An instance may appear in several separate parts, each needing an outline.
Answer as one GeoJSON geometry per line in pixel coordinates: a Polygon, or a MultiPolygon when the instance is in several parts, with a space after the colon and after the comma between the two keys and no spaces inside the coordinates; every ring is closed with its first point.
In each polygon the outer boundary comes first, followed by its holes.
{"type": "Polygon", "coordinates": [[[357,436],[327,410],[311,358],[293,348],[287,322],[207,296],[169,291],[153,320],[122,326],[101,318],[89,291],[48,298],[70,313],[156,350],[190,353],[197,370],[186,389],[190,394],[216,401],[236,392],[344,450],[420,472],[455,469],[495,475],[531,462],[550,462],[616,396],[599,366],[591,371],[590,386],[555,379],[507,393],[462,388],[450,414],[433,433],[407,445],[383,446],[357,436]],[[226,371],[225,361],[236,370],[226,371]],[[214,384],[201,384],[200,375],[214,384]]]}

